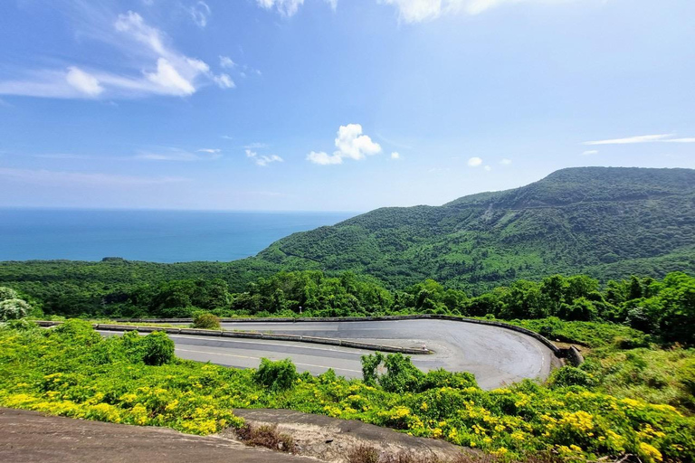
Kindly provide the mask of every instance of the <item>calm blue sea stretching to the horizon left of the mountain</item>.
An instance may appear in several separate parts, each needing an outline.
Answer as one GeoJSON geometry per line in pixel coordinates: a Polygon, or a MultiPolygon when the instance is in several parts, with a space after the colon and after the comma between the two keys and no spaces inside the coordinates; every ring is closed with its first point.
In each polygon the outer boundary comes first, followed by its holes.
{"type": "Polygon", "coordinates": [[[0,209],[0,260],[228,261],[357,213],[0,209]]]}

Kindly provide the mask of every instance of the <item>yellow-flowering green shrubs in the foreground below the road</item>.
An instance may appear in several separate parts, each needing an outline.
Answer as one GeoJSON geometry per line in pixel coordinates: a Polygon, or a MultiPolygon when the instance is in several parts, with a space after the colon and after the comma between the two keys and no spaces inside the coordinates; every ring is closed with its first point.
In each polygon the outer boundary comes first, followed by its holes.
{"type": "Polygon", "coordinates": [[[423,383],[413,391],[388,392],[335,373],[303,373],[289,389],[273,388],[270,381],[257,382],[259,373],[252,370],[131,361],[127,346],[137,335],[102,338],[92,330],[94,342],[85,343],[92,338],[89,325],[64,326],[0,329],[0,406],[195,434],[241,427],[234,408],[284,408],[446,439],[509,460],[538,452],[576,461],[612,461],[625,454],[672,463],[695,458],[694,418],[668,405],[581,386],[550,389],[524,382],[483,391],[464,377],[413,373],[402,358],[392,357],[399,376],[424,377],[423,383]],[[104,352],[111,360],[95,363],[104,352]]]}

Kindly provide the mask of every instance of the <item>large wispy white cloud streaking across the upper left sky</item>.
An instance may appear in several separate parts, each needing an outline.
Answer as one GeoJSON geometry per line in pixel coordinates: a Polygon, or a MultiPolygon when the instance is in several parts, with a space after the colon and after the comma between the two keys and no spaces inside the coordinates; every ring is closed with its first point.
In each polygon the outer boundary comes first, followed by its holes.
{"type": "MultiPolygon", "coordinates": [[[[166,33],[138,13],[111,14],[103,5],[74,2],[73,16],[81,18],[81,37],[108,43],[122,55],[122,69],[108,71],[66,64],[62,69],[24,71],[14,80],[0,81],[0,94],[58,99],[118,99],[151,95],[186,97],[206,83],[234,88],[232,78],[215,74],[205,61],[176,51],[166,33]],[[139,73],[131,69],[138,62],[139,73]]],[[[195,4],[205,10],[204,2],[195,4]]],[[[205,11],[208,11],[209,8],[205,11]]],[[[199,21],[200,22],[200,21],[199,21]]],[[[116,60],[118,61],[118,60],[116,60]]],[[[114,62],[116,66],[119,62],[114,62]]]]}

